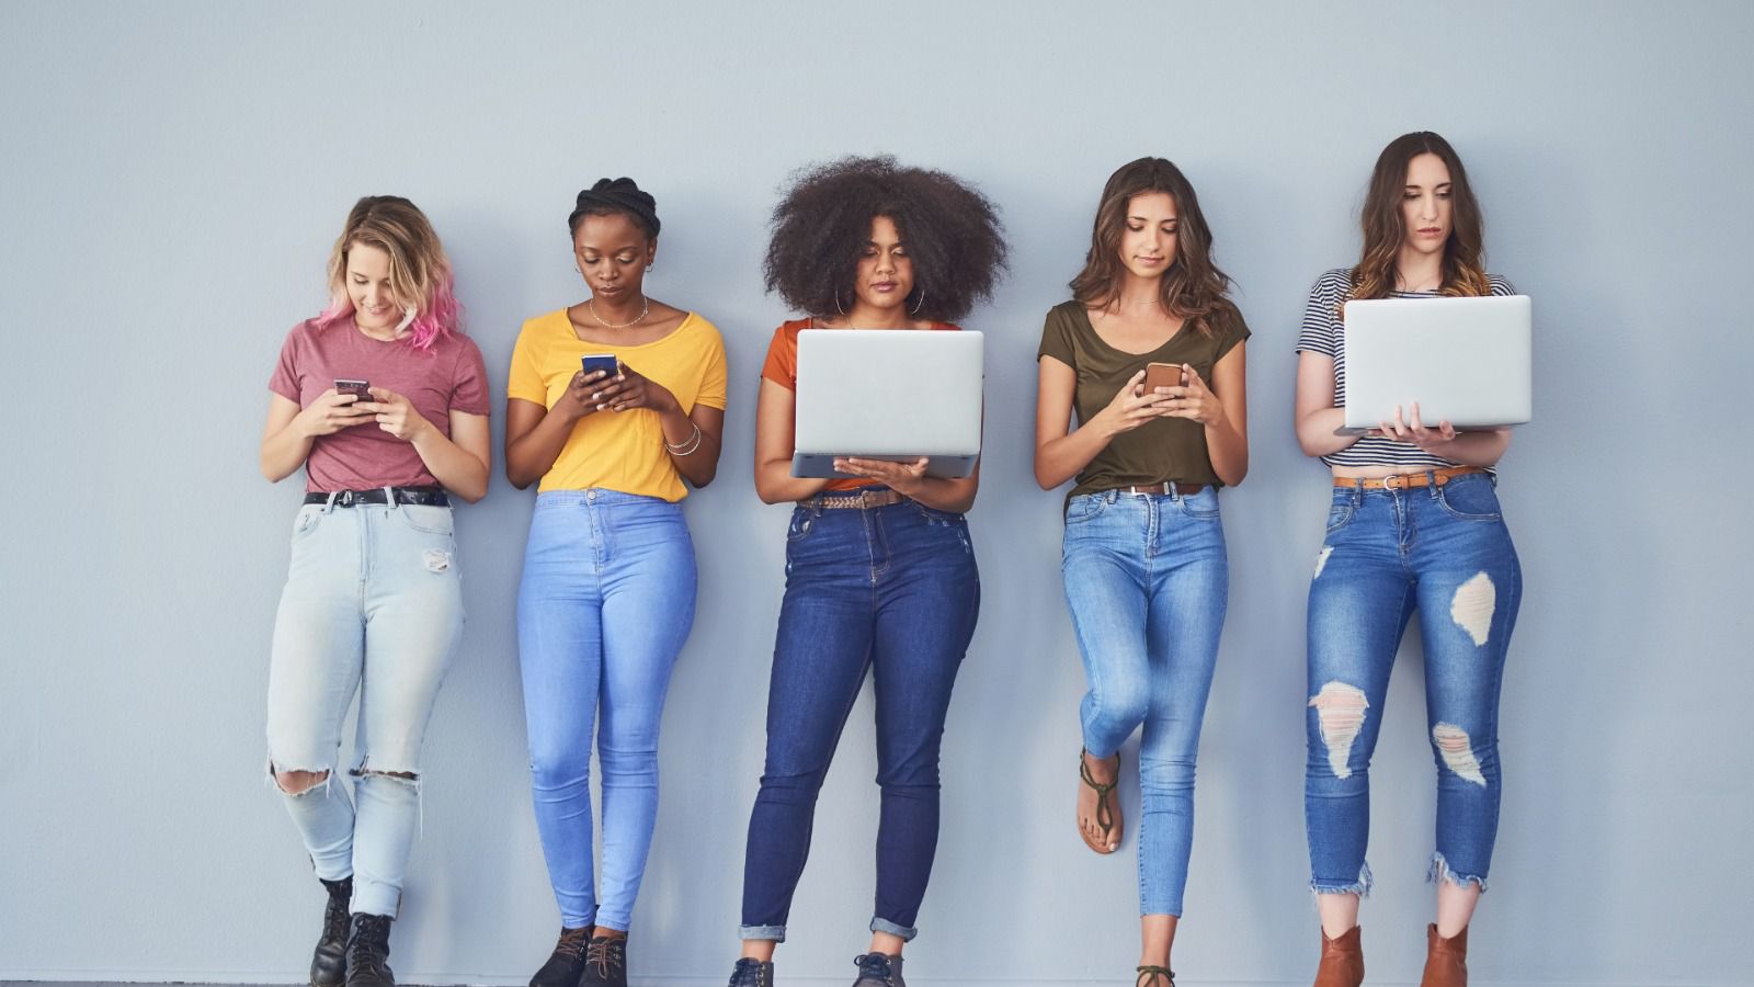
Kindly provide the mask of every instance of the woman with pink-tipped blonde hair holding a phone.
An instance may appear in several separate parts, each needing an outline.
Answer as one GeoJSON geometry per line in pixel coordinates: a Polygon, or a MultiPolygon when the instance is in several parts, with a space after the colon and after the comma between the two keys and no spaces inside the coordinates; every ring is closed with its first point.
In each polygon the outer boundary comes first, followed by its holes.
{"type": "Polygon", "coordinates": [[[305,467],[274,623],[268,771],[328,889],[310,983],[389,987],[421,739],[463,636],[451,495],[488,492],[488,385],[444,248],[407,198],[353,207],[330,293],[286,334],[261,436],[270,481],[305,467]],[[349,797],[335,769],[354,692],[349,797]]]}

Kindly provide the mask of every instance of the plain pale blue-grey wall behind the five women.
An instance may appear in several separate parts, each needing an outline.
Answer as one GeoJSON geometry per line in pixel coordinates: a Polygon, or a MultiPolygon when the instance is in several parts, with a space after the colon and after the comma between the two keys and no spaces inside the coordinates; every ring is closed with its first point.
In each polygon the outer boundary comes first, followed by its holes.
{"type": "MultiPolygon", "coordinates": [[[[791,169],[889,151],[977,181],[1014,244],[966,320],[989,339],[986,604],[914,982],[1130,983],[1133,843],[1096,859],[1072,825],[1082,673],[1030,421],[1042,313],[1103,179],[1151,153],[1200,190],[1256,332],[1175,966],[1307,983],[1303,594],[1326,472],[1293,441],[1291,346],[1310,281],[1356,256],[1375,153],[1433,128],[1470,165],[1491,269],[1538,313],[1537,423],[1503,464],[1528,592],[1475,978],[1754,980],[1750,47],[1740,2],[5,4],[0,978],[303,976],[321,901],[261,778],[300,494],[256,474],[282,334],[323,306],[353,200],[409,195],[451,251],[498,432],[519,321],[582,297],[574,191],[630,174],[665,218],[652,293],[717,321],[733,379],[719,479],[688,501],[700,618],[631,952],[645,983],[723,983],[786,523],[749,481],[788,316],[759,285],[765,220],[791,169]]],[[[496,464],[460,509],[468,636],[424,757],[403,980],[521,983],[553,943],[512,627],[530,502],[496,464]]],[[[1433,811],[1412,641],[1391,692],[1365,926],[1373,976],[1405,983],[1433,811]]],[[[872,776],[861,701],[789,983],[845,983],[865,945],[872,776]]]]}

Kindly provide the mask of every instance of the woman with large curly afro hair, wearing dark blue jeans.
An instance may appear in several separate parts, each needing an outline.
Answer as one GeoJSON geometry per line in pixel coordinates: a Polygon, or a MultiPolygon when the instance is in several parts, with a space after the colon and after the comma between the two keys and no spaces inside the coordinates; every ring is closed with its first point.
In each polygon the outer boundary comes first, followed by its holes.
{"type": "Polygon", "coordinates": [[[926,460],[835,460],[791,476],[798,332],[956,330],[1005,269],[993,204],[893,158],[805,169],[774,209],[768,290],[805,318],[774,332],[756,406],[756,492],[795,501],[768,685],[766,764],[749,817],[742,959],[731,987],[770,987],[810,848],[816,796],[866,669],[877,690],[877,896],[856,987],[903,987],[902,948],[938,841],[938,743],[975,630],[980,581],[963,520],[980,481],[926,460]]]}

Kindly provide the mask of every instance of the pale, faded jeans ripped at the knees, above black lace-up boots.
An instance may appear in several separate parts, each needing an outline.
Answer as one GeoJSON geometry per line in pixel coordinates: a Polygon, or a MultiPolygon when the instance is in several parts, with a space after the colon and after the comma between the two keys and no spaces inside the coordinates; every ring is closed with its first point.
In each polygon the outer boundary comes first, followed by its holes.
{"type": "Polygon", "coordinates": [[[354,913],[395,915],[419,827],[419,759],[463,638],[451,508],[305,504],[274,622],[268,767],[328,771],[286,808],[324,880],[353,875],[354,913]],[[360,694],[347,785],[340,729],[360,694]]]}

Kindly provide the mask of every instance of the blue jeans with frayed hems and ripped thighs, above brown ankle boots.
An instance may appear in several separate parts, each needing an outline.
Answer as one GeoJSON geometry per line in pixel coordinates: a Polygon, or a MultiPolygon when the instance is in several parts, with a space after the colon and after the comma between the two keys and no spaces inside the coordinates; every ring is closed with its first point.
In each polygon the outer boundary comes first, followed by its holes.
{"type": "Polygon", "coordinates": [[[1408,490],[1335,486],[1308,597],[1312,890],[1370,892],[1370,755],[1415,609],[1437,760],[1430,880],[1486,889],[1501,790],[1498,694],[1521,601],[1522,569],[1491,476],[1408,490]]]}

